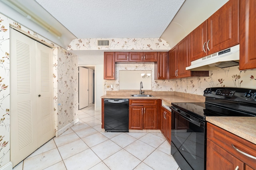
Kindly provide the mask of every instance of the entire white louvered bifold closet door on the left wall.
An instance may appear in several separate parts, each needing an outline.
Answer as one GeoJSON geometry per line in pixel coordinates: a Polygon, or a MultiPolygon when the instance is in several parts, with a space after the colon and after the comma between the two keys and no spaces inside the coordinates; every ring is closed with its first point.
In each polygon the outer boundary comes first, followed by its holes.
{"type": "Polygon", "coordinates": [[[52,49],[13,29],[10,42],[10,153],[15,166],[54,137],[52,49]]]}

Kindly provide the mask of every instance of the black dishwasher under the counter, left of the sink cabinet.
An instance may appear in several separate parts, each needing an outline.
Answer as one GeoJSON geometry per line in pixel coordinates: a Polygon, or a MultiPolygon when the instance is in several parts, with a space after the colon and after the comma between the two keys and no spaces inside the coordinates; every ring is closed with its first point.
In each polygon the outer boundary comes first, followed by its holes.
{"type": "Polygon", "coordinates": [[[129,132],[129,99],[104,99],[106,132],[129,132]]]}

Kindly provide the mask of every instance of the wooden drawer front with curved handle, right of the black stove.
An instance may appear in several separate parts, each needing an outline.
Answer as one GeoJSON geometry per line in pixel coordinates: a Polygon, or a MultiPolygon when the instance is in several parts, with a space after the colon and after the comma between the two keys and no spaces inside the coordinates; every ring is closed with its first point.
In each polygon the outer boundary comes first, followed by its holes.
{"type": "Polygon", "coordinates": [[[207,138],[234,155],[250,167],[256,168],[256,160],[238,152],[234,147],[256,157],[256,145],[220,127],[207,123],[207,138]],[[233,147],[233,146],[234,147],[233,147]]]}

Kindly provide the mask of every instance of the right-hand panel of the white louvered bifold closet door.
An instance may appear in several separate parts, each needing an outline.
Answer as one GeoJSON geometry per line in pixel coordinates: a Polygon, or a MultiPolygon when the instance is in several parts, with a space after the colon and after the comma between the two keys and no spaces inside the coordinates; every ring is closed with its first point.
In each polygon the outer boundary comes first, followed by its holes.
{"type": "Polygon", "coordinates": [[[38,145],[44,145],[55,135],[53,109],[53,64],[52,49],[36,43],[36,113],[38,145]]]}

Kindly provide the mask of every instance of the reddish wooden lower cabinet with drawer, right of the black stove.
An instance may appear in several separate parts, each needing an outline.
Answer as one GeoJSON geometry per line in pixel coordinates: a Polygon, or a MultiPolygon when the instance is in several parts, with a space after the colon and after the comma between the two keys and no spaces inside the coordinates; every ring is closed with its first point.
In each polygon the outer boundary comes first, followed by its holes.
{"type": "Polygon", "coordinates": [[[207,170],[255,170],[256,145],[220,127],[207,123],[207,170]],[[236,149],[254,156],[250,158],[236,149]]]}

